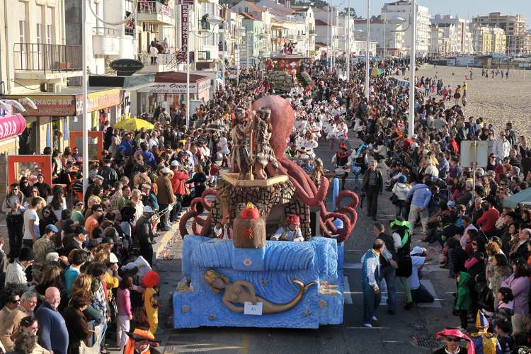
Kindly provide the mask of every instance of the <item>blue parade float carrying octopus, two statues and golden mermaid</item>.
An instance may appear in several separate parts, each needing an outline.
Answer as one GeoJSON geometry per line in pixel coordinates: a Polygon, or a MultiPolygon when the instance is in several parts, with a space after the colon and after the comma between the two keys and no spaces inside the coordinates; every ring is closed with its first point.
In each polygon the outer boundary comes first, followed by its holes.
{"type": "Polygon", "coordinates": [[[261,98],[236,120],[232,171],[195,198],[179,224],[174,328],[341,324],[343,241],[355,227],[358,196],[339,193],[329,212],[326,177],[318,188],[286,158],[294,115],[283,98],[261,98]]]}

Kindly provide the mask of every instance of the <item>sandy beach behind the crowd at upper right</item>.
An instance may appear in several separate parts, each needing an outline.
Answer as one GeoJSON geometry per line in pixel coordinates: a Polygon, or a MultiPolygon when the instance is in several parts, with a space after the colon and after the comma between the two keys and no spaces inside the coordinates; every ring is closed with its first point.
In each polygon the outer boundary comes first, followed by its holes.
{"type": "MultiPolygon", "coordinates": [[[[440,67],[424,65],[418,75],[433,77],[437,74],[442,83],[455,89],[462,85],[465,75],[469,75],[466,67],[440,67]],[[452,75],[452,72],[455,75],[452,75]]],[[[513,122],[513,130],[517,135],[531,138],[531,71],[509,70],[509,79],[500,79],[500,75],[491,79],[481,77],[481,69],[472,68],[473,79],[467,82],[466,117],[486,118],[487,124],[495,127],[496,133],[505,128],[506,122],[513,122]]]]}

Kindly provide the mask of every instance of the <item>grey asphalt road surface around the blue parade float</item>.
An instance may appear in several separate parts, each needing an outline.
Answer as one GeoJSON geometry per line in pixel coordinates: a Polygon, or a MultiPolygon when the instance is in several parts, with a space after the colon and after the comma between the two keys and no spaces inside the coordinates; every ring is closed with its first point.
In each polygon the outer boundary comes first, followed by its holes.
{"type": "MultiPolygon", "coordinates": [[[[350,144],[357,147],[355,139],[350,144]]],[[[323,159],[325,168],[333,169],[328,144],[321,142],[316,149],[323,159]]],[[[386,166],[379,166],[387,177],[386,166]]],[[[351,177],[351,176],[349,176],[351,177]]],[[[353,181],[347,181],[347,188],[353,188],[353,181]]],[[[394,207],[389,202],[390,193],[384,191],[379,199],[379,221],[388,224],[394,217],[394,207]]],[[[329,195],[330,197],[330,195],[329,195]]],[[[366,210],[358,208],[358,224],[345,245],[345,275],[350,292],[346,294],[344,321],[339,326],[323,326],[320,329],[252,329],[252,328],[209,328],[172,329],[171,292],[181,278],[181,259],[178,235],[167,234],[171,244],[166,246],[173,255],[172,260],[159,259],[156,268],[161,273],[160,309],[161,329],[157,336],[161,340],[160,350],[164,353],[429,353],[437,348],[433,334],[444,326],[458,326],[459,319],[452,316],[455,285],[448,278],[447,270],[438,266],[440,248],[430,249],[424,279],[435,288],[435,304],[430,307],[414,307],[404,310],[404,292],[396,283],[398,292],[397,309],[394,316],[387,314],[387,305],[377,310],[379,321],[366,329],[361,324],[362,295],[360,285],[360,258],[370,248],[374,233],[372,219],[366,217],[366,210]],[[351,301],[350,301],[351,299],[351,301]]],[[[413,246],[423,244],[420,236],[413,236],[413,246]]],[[[164,242],[162,242],[164,244],[164,242]]],[[[167,258],[167,257],[166,257],[167,258]]],[[[429,284],[428,284],[429,285],[429,284]]]]}

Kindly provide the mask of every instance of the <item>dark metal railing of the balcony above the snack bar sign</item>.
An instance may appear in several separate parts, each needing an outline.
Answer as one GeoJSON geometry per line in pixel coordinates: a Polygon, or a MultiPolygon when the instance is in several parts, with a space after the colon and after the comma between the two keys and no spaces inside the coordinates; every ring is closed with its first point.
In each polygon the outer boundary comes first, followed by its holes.
{"type": "Polygon", "coordinates": [[[81,45],[15,43],[16,71],[74,72],[82,69],[81,45]]]}

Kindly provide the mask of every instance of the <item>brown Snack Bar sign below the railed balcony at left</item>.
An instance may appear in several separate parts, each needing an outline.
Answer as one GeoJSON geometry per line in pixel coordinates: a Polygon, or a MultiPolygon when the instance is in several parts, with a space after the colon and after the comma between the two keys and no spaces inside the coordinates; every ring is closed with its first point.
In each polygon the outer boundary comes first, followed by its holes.
{"type": "Polygon", "coordinates": [[[63,117],[76,115],[76,97],[74,95],[8,96],[8,98],[13,98],[14,100],[23,97],[30,98],[37,105],[37,109],[35,110],[29,105],[22,103],[26,109],[23,115],[26,117],[42,115],[63,117]]]}

